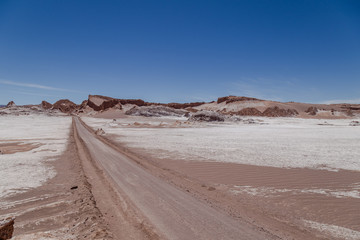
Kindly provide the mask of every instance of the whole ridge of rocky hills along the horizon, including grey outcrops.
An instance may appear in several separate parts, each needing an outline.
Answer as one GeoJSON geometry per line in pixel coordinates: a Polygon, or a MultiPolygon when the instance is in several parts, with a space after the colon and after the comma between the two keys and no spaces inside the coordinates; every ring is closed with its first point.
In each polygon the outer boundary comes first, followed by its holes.
{"type": "MultiPolygon", "coordinates": [[[[31,106],[30,106],[31,107],[31,106]]],[[[192,103],[153,103],[142,99],[118,99],[101,95],[89,95],[80,105],[68,99],[62,99],[54,104],[43,101],[36,105],[41,111],[59,111],[65,114],[99,115],[117,112],[123,115],[138,116],[189,116],[203,113],[212,116],[210,112],[224,117],[300,117],[300,118],[351,118],[360,116],[360,104],[309,104],[297,102],[276,102],[243,96],[220,97],[212,102],[192,103]]],[[[3,108],[15,109],[14,102],[3,108]]],[[[197,116],[197,115],[195,115],[197,116]]],[[[196,119],[192,118],[192,119],[196,119]]]]}

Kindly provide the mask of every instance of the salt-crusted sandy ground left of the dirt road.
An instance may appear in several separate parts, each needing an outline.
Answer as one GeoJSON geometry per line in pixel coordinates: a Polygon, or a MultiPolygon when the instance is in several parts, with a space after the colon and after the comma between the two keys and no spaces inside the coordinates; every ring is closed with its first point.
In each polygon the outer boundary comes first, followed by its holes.
{"type": "MultiPolygon", "coordinates": [[[[2,118],[1,124],[6,121],[2,118]]],[[[44,116],[17,116],[11,121],[21,122],[22,125],[20,131],[13,126],[1,129],[2,133],[8,133],[2,135],[2,141],[6,143],[0,145],[5,152],[0,155],[0,184],[3,190],[0,219],[16,217],[13,239],[111,239],[102,214],[96,207],[91,186],[83,174],[70,128],[71,118],[60,125],[61,118],[44,116]],[[36,130],[40,123],[45,131],[36,130]],[[29,130],[22,132],[21,128],[26,126],[29,130]],[[32,126],[35,129],[31,129],[32,126]],[[57,127],[51,129],[54,126],[57,127]],[[64,140],[55,141],[46,136],[56,129],[60,130],[56,137],[65,134],[64,140]],[[12,139],[20,138],[17,135],[21,135],[21,143],[18,140],[12,142],[12,139]],[[45,150],[39,153],[40,147],[45,150]],[[52,148],[63,151],[46,151],[52,148]],[[15,161],[15,164],[7,164],[10,161],[15,161]],[[24,177],[19,177],[19,174],[24,177]]]]}

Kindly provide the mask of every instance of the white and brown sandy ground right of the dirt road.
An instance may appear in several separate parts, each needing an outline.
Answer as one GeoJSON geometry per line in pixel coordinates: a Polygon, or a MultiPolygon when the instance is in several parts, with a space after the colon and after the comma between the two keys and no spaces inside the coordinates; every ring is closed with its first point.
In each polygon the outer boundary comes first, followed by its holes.
{"type": "Polygon", "coordinates": [[[360,128],[349,120],[84,120],[153,174],[283,239],[360,239],[360,128]]]}

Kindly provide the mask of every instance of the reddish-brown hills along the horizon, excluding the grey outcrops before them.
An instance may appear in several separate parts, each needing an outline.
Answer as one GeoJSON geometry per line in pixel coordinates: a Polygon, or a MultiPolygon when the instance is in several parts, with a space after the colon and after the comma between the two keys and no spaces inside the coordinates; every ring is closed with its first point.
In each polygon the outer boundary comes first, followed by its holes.
{"type": "MultiPolygon", "coordinates": [[[[49,108],[50,103],[43,102],[43,108],[49,108]]],[[[184,109],[187,112],[213,111],[224,115],[264,116],[264,117],[301,117],[301,118],[348,118],[360,116],[360,104],[309,104],[298,102],[276,102],[243,96],[220,97],[213,102],[192,103],[153,103],[141,99],[117,99],[101,95],[89,95],[81,105],[69,100],[56,102],[52,109],[65,113],[85,113],[117,109],[119,114],[136,107],[163,106],[172,109],[184,109]]]]}

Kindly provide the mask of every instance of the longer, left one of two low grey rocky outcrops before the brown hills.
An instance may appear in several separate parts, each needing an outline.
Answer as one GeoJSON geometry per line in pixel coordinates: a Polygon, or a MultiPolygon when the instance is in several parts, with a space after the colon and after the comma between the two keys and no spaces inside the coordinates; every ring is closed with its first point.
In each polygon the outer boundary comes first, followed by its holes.
{"type": "Polygon", "coordinates": [[[145,116],[145,117],[163,117],[163,116],[175,116],[182,117],[188,114],[188,111],[183,109],[175,109],[167,106],[141,106],[133,107],[125,112],[126,115],[133,116],[145,116]]]}

